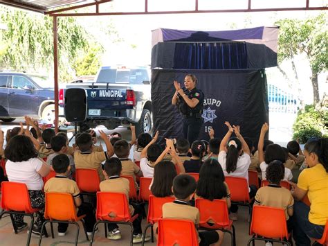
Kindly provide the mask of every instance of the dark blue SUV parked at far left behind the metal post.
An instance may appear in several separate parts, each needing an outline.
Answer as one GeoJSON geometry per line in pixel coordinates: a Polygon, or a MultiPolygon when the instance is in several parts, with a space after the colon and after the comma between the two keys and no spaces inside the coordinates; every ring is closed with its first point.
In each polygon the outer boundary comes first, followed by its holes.
{"type": "Polygon", "coordinates": [[[0,119],[14,121],[25,115],[53,123],[53,83],[45,77],[20,72],[0,72],[0,119]]]}

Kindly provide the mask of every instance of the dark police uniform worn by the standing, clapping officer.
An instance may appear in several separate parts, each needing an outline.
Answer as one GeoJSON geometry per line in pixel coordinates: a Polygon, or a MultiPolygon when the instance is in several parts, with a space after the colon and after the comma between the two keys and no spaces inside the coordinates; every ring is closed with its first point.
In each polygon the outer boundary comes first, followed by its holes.
{"type": "Polygon", "coordinates": [[[203,114],[204,94],[203,91],[196,87],[191,91],[188,91],[188,89],[184,89],[183,91],[189,99],[196,98],[199,100],[199,103],[194,108],[191,108],[185,103],[183,96],[178,95],[179,100],[177,105],[183,116],[183,137],[187,139],[191,145],[192,142],[198,139],[201,125],[203,125],[201,114],[203,114]]]}

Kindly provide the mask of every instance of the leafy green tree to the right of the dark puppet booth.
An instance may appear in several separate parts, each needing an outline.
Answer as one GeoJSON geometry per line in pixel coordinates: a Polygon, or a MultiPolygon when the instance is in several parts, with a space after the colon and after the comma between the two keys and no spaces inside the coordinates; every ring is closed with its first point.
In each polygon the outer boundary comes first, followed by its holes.
{"type": "Polygon", "coordinates": [[[302,53],[307,55],[311,67],[313,103],[319,103],[318,74],[327,71],[328,67],[327,15],[321,14],[305,20],[281,19],[276,25],[280,26],[278,62],[293,60],[294,55],[302,53]]]}

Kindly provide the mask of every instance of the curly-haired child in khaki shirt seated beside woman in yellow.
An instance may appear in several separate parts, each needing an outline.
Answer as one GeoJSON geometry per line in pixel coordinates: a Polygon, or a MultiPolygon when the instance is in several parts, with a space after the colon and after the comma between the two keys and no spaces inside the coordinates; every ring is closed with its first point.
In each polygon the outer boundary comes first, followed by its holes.
{"type": "Polygon", "coordinates": [[[282,161],[271,161],[266,168],[266,179],[268,186],[259,188],[255,195],[254,205],[282,208],[285,211],[287,227],[291,231],[291,220],[293,216],[294,199],[291,191],[280,186],[284,178],[284,164],[282,161]]]}

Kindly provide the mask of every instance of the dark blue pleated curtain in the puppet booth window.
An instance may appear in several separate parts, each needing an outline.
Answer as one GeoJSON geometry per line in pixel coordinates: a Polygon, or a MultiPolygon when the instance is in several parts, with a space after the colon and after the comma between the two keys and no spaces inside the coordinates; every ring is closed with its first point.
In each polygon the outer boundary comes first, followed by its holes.
{"type": "Polygon", "coordinates": [[[246,43],[178,43],[173,65],[173,69],[246,69],[246,43]]]}

